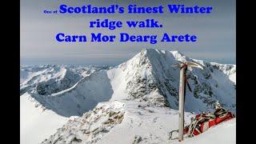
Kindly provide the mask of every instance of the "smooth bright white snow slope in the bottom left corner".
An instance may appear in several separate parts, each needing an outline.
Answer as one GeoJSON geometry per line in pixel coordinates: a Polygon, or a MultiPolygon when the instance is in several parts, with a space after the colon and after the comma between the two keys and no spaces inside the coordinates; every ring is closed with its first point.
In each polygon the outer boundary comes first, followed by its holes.
{"type": "Polygon", "coordinates": [[[20,97],[20,141],[24,144],[42,142],[68,119],[55,114],[52,110],[43,110],[34,105],[33,101],[34,99],[27,93],[20,97]]]}

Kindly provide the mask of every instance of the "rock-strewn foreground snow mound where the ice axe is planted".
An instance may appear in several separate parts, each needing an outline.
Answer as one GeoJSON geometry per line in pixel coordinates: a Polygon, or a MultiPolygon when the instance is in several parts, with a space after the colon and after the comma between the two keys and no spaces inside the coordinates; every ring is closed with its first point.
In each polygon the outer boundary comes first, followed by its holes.
{"type": "MultiPolygon", "coordinates": [[[[186,113],[186,125],[194,114],[186,113]]],[[[235,118],[184,143],[235,143],[235,118]]],[[[42,143],[178,143],[169,140],[178,129],[178,110],[138,102],[102,102],[81,118],[70,120],[42,143]]]]}

